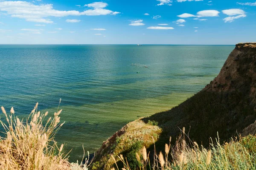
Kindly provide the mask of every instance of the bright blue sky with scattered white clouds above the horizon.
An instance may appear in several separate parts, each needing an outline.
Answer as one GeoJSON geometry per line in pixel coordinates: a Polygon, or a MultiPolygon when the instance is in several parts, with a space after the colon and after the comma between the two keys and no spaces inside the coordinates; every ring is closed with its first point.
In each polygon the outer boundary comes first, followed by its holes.
{"type": "Polygon", "coordinates": [[[0,44],[256,42],[255,0],[0,0],[0,44]]]}

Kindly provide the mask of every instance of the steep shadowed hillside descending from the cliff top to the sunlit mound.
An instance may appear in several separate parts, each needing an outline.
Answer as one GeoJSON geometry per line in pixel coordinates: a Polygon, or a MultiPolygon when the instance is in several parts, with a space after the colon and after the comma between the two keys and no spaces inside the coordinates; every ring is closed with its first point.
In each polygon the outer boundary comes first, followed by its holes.
{"type": "Polygon", "coordinates": [[[198,94],[170,111],[135,121],[140,122],[138,127],[131,129],[126,125],[104,142],[96,153],[94,167],[109,169],[113,165],[110,154],[117,156],[122,153],[129,158],[134,154],[133,150],[138,151],[143,145],[149,150],[153,149],[153,140],[148,140],[150,135],[154,136],[157,150],[164,150],[169,136],[174,139],[180,133],[180,128],[186,127],[190,139],[207,145],[209,137],[216,138],[217,132],[220,139],[229,139],[242,133],[255,120],[256,43],[243,43],[236,45],[218,76],[198,94]],[[155,129],[150,134],[142,130],[142,127],[150,126],[155,129]],[[136,132],[143,133],[140,133],[140,138],[136,138],[131,131],[137,135],[136,132]],[[136,148],[134,144],[137,144],[136,148]]]}

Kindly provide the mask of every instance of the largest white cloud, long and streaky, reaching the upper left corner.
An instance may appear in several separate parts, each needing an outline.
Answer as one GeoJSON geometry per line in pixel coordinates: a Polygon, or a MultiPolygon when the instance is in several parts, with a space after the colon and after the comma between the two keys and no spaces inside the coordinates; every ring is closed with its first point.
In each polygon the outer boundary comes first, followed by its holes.
{"type": "Polygon", "coordinates": [[[93,9],[85,11],[60,11],[53,8],[52,4],[40,4],[35,5],[26,1],[1,1],[0,11],[6,12],[11,17],[17,17],[25,19],[29,22],[37,23],[53,23],[47,17],[67,17],[67,16],[80,16],[80,15],[107,15],[107,14],[119,14],[119,12],[103,9],[108,6],[107,3],[91,3],[87,4],[88,7],[93,9]]]}

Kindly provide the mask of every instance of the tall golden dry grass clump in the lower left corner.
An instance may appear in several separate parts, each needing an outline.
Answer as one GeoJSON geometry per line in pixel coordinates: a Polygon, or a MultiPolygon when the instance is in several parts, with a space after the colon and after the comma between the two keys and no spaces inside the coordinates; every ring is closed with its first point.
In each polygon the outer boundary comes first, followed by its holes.
{"type": "Polygon", "coordinates": [[[61,110],[53,117],[48,112],[37,111],[38,103],[26,121],[15,116],[13,108],[7,114],[1,107],[5,120],[0,120],[6,137],[0,137],[1,170],[85,170],[86,165],[68,162],[55,134],[64,124],[59,124],[61,110]]]}

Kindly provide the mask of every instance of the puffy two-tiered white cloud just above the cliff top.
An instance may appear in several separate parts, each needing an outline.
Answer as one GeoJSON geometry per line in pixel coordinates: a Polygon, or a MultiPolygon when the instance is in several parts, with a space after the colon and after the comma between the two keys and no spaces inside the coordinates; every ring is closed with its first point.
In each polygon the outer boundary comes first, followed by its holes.
{"type": "Polygon", "coordinates": [[[223,14],[230,16],[230,17],[226,17],[223,19],[225,23],[227,23],[227,22],[231,23],[235,19],[246,17],[245,11],[243,11],[241,9],[227,9],[227,10],[223,10],[222,12],[223,12],[223,14]]]}

